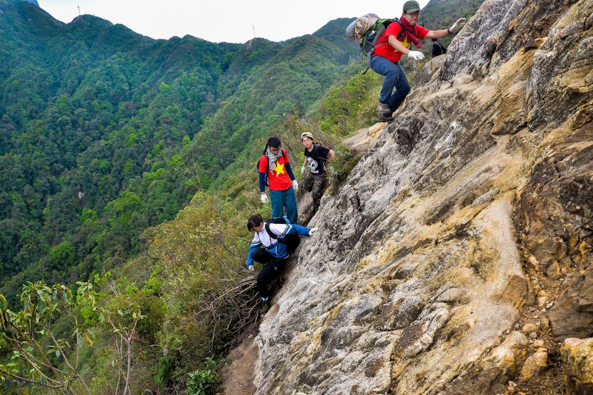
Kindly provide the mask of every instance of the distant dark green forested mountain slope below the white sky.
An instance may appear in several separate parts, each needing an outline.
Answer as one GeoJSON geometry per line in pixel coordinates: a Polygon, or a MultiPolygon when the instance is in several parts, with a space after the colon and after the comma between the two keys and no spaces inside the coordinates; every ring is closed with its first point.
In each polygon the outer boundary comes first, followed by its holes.
{"type": "MultiPolygon", "coordinates": [[[[315,36],[153,40],[91,15],[64,24],[28,2],[0,8],[8,296],[123,264],[144,229],[172,219],[283,113],[307,111],[348,60],[315,36]]],[[[346,22],[334,22],[340,33],[346,22]]]]}

